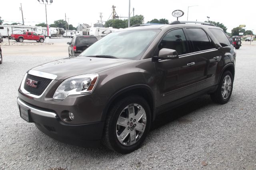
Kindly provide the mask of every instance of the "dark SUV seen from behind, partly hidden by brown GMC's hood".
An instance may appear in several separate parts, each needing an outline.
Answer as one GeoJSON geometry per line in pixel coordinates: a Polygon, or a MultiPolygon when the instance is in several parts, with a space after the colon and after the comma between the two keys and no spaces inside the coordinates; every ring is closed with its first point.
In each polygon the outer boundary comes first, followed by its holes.
{"type": "Polygon", "coordinates": [[[94,36],[89,35],[78,35],[74,36],[68,46],[68,57],[78,56],[82,51],[90,47],[93,43],[98,41],[94,36]]]}

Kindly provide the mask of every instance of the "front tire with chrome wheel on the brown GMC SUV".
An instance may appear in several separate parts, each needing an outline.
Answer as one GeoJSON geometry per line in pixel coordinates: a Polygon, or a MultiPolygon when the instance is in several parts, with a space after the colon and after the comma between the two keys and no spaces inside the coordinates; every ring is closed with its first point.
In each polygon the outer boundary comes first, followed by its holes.
{"type": "Polygon", "coordinates": [[[116,101],[106,119],[102,143],[119,153],[130,153],[140,147],[151,125],[150,107],[140,96],[116,101]]]}

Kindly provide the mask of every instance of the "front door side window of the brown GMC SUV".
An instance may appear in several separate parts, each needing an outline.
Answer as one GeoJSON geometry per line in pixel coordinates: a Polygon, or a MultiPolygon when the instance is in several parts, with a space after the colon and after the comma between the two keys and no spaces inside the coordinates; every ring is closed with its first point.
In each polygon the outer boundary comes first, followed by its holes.
{"type": "Polygon", "coordinates": [[[178,55],[187,54],[188,44],[183,30],[175,29],[168,32],[158,46],[158,50],[163,48],[174,49],[177,51],[178,55]]]}

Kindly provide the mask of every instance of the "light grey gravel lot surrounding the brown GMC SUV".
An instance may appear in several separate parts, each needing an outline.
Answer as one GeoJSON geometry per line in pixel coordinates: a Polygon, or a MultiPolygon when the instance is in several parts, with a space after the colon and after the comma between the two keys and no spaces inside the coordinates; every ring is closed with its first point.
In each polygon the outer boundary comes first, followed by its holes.
{"type": "Polygon", "coordinates": [[[0,169],[256,169],[255,45],[243,42],[237,50],[228,104],[215,104],[202,96],[164,113],[157,117],[144,145],[124,155],[104,147],[60,143],[20,118],[16,98],[25,72],[66,57],[64,43],[69,40],[54,39],[58,45],[54,55],[50,52],[54,45],[44,46],[44,55],[30,50],[35,46],[24,46],[21,53],[14,46],[1,46],[0,169]]]}

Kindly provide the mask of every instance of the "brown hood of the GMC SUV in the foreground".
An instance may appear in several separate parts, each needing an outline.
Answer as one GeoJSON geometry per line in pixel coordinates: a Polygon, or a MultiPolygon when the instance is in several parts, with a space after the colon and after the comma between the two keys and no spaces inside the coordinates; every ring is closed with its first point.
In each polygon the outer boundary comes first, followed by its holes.
{"type": "Polygon", "coordinates": [[[133,60],[127,59],[106,59],[96,57],[71,57],[42,64],[32,68],[41,72],[57,75],[56,80],[65,80],[72,76],[82,74],[97,73],[108,68],[118,66],[124,63],[130,63],[133,60]]]}

